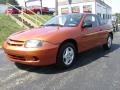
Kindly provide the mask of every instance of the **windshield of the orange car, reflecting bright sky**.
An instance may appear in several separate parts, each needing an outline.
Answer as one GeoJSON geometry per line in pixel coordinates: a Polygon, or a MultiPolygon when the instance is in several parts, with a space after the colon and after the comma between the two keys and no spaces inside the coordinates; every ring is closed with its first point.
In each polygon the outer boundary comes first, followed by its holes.
{"type": "Polygon", "coordinates": [[[82,14],[66,14],[55,16],[47,21],[44,26],[77,26],[80,23],[82,14]]]}

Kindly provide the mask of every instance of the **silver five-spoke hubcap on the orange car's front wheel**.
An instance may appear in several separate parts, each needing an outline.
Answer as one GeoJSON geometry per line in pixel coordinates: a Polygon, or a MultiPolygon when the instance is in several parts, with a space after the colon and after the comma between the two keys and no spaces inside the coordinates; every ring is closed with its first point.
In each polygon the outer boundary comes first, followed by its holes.
{"type": "Polygon", "coordinates": [[[72,47],[67,47],[63,52],[63,62],[65,65],[70,65],[75,57],[75,53],[72,47]]]}

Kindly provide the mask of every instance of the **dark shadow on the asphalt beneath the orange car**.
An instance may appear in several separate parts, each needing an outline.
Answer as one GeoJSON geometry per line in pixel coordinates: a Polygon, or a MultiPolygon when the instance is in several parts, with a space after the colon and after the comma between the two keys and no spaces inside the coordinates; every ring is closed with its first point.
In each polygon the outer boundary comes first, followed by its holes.
{"type": "Polygon", "coordinates": [[[118,48],[120,48],[119,44],[113,44],[113,47],[108,51],[103,50],[102,47],[97,47],[89,51],[80,53],[78,55],[78,60],[76,61],[76,63],[71,68],[68,69],[56,69],[54,65],[42,66],[42,67],[33,67],[33,66],[17,64],[17,63],[15,63],[15,65],[19,69],[26,70],[28,72],[35,72],[40,74],[59,74],[77,69],[79,67],[83,67],[85,65],[89,65],[90,63],[99,60],[99,58],[101,57],[109,58],[108,54],[117,50],[118,48]]]}

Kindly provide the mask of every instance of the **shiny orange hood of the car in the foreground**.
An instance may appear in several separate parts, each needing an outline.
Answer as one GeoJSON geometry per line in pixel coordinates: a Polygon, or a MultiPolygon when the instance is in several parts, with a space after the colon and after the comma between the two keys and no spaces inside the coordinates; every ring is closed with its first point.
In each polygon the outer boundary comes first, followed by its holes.
{"type": "Polygon", "coordinates": [[[57,33],[63,31],[64,29],[65,28],[62,27],[35,28],[31,30],[24,30],[14,33],[9,37],[9,39],[19,40],[19,41],[27,41],[31,39],[48,40],[48,38],[50,38],[53,35],[57,35],[57,33]]]}

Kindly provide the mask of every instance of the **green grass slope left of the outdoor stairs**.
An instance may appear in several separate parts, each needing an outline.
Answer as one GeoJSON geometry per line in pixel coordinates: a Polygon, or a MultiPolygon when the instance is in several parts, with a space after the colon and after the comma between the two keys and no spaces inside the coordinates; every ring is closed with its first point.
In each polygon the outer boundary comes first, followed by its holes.
{"type": "Polygon", "coordinates": [[[13,21],[9,16],[0,14],[0,45],[6,40],[6,38],[17,31],[22,30],[15,21],[13,21]]]}

